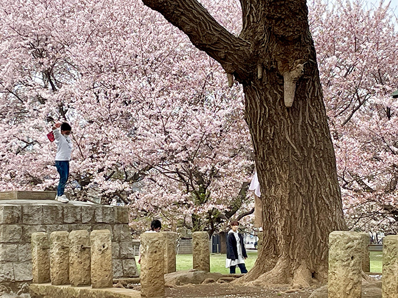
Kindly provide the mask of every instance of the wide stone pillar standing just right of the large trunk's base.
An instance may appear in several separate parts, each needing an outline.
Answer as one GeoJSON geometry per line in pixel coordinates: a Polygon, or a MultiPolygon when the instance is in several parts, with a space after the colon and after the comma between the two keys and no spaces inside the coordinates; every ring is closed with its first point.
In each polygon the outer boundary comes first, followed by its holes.
{"type": "Polygon", "coordinates": [[[357,232],[329,234],[328,298],[361,298],[362,246],[357,232]]]}

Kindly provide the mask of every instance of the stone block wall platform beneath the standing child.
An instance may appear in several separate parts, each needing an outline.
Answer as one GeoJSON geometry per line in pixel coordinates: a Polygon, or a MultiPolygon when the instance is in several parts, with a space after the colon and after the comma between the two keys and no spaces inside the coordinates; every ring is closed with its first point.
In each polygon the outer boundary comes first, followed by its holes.
{"type": "Polygon", "coordinates": [[[54,200],[0,200],[0,284],[30,282],[33,232],[108,229],[114,278],[137,276],[128,208],[54,200]]]}

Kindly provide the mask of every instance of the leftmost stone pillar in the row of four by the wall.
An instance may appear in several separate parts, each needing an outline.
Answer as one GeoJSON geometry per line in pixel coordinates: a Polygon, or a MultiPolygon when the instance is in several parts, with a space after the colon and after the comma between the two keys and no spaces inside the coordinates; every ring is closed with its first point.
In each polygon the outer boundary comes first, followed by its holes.
{"type": "Polygon", "coordinates": [[[45,232],[32,233],[30,241],[32,249],[33,283],[50,282],[50,245],[45,232]]]}

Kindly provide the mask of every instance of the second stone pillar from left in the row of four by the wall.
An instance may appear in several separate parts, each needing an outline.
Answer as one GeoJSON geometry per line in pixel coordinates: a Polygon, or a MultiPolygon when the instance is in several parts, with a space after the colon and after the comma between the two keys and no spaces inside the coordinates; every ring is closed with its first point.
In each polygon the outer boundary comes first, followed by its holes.
{"type": "Polygon", "coordinates": [[[54,286],[69,285],[69,240],[67,231],[50,234],[50,275],[54,286]]]}

